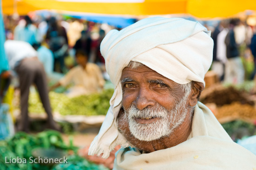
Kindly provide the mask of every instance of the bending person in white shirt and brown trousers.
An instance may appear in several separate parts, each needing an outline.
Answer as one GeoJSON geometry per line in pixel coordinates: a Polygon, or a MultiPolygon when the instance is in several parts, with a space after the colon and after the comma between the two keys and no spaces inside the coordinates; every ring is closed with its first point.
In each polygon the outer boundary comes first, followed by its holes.
{"type": "Polygon", "coordinates": [[[37,58],[37,52],[27,42],[7,40],[4,44],[10,68],[17,72],[20,81],[20,107],[21,119],[18,131],[29,131],[28,122],[28,96],[30,85],[35,84],[41,102],[47,113],[48,127],[60,130],[55,124],[47,90],[47,78],[42,63],[37,58]]]}

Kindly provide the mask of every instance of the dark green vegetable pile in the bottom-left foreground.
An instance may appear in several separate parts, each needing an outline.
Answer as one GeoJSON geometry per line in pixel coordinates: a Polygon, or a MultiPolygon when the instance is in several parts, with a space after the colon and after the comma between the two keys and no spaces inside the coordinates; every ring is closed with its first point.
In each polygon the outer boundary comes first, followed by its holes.
{"type": "MultiPolygon", "coordinates": [[[[29,135],[25,132],[18,132],[6,141],[0,141],[0,170],[108,170],[102,165],[88,162],[85,158],[77,155],[77,147],[73,146],[72,140],[66,145],[57,131],[43,131],[37,135],[29,135]],[[67,163],[42,164],[31,163],[34,149],[58,149],[64,153],[74,155],[67,156],[67,163]],[[6,158],[27,160],[26,163],[6,163],[6,158]],[[31,158],[32,157],[32,158],[31,158]]],[[[68,155],[68,154],[67,154],[68,155]]],[[[7,161],[8,162],[8,161],[7,161]]]]}

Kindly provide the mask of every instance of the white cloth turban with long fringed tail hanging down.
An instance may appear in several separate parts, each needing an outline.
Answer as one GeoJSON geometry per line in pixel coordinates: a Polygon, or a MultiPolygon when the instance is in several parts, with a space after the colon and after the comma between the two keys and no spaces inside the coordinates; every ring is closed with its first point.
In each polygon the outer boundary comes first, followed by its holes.
{"type": "Polygon", "coordinates": [[[116,145],[128,146],[117,129],[121,108],[121,73],[130,61],[140,62],[178,84],[204,83],[212,62],[213,40],[198,22],[180,18],[147,18],[121,31],[111,30],[101,42],[101,54],[115,92],[99,134],[89,154],[109,156],[116,145]]]}

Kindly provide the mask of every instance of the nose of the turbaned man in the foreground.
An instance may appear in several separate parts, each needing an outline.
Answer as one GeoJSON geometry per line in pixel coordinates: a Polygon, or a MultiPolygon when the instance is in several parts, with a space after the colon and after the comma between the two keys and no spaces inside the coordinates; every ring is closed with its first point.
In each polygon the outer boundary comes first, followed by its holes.
{"type": "Polygon", "coordinates": [[[133,101],[133,104],[139,109],[143,110],[148,106],[154,106],[155,100],[152,98],[152,92],[148,89],[140,89],[137,98],[133,101]]]}

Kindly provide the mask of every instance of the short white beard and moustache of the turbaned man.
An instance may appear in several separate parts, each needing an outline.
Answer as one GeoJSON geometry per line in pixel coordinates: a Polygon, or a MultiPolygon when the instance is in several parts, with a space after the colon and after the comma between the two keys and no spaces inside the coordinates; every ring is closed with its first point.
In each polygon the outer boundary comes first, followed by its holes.
{"type": "Polygon", "coordinates": [[[142,111],[138,110],[135,105],[132,105],[128,111],[124,109],[130,132],[141,141],[153,141],[169,136],[184,122],[188,113],[187,100],[188,96],[185,95],[170,111],[159,104],[153,108],[145,108],[142,111]],[[140,124],[135,118],[159,119],[149,124],[140,124]]]}

